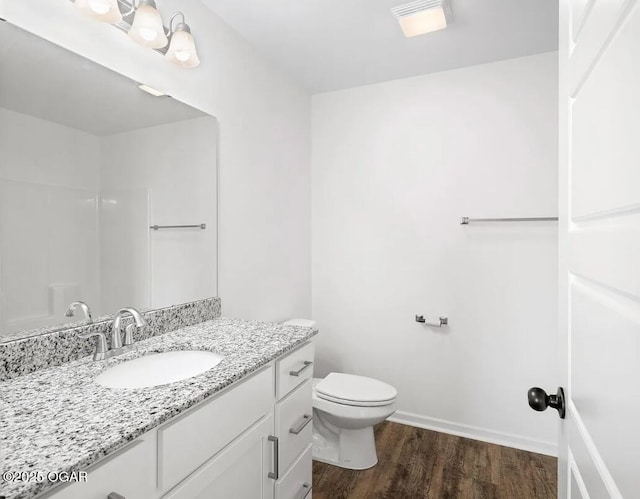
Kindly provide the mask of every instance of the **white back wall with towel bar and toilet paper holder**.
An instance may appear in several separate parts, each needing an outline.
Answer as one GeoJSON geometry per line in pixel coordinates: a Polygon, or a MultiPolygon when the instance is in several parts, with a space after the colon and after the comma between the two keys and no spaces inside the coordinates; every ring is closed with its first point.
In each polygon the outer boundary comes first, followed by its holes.
{"type": "Polygon", "coordinates": [[[320,94],[312,101],[318,374],[386,380],[397,418],[553,453],[557,54],[320,94]],[[430,328],[416,314],[448,315],[430,328]]]}

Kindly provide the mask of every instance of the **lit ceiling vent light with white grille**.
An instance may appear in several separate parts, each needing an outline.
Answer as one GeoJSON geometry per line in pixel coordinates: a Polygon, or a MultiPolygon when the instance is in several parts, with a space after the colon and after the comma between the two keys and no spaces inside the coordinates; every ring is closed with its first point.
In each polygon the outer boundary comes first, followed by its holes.
{"type": "Polygon", "coordinates": [[[451,21],[449,0],[418,0],[391,9],[407,38],[439,31],[451,21]]]}

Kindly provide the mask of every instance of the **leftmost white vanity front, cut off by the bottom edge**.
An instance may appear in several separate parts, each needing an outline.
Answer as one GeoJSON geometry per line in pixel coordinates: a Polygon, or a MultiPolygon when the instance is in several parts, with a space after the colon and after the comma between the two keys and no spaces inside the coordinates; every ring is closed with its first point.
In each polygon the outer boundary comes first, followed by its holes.
{"type": "Polygon", "coordinates": [[[111,492],[127,499],[153,497],[155,447],[155,434],[149,432],[90,466],[86,482],[62,485],[38,499],[105,499],[111,492]]]}

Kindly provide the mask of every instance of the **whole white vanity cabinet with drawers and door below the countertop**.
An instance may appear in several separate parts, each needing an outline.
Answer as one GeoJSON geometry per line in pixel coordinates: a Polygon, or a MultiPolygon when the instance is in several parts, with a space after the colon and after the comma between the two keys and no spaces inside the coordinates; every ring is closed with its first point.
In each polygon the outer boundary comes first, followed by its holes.
{"type": "Polygon", "coordinates": [[[40,497],[310,499],[313,354],[305,343],[40,497]]]}

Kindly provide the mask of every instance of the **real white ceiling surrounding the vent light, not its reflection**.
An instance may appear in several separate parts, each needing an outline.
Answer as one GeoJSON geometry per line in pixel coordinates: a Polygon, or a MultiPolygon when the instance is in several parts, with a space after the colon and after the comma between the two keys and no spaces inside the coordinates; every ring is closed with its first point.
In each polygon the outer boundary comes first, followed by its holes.
{"type": "Polygon", "coordinates": [[[557,0],[451,0],[447,29],[405,38],[409,0],[202,0],[313,93],[549,52],[557,0]]]}

